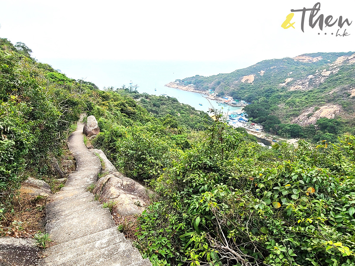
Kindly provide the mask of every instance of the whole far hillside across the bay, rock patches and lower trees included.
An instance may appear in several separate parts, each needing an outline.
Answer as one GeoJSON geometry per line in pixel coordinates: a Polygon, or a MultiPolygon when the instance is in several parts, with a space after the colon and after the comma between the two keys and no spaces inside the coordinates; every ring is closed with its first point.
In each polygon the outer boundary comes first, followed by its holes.
{"type": "Polygon", "coordinates": [[[354,52],[316,53],[264,60],[232,73],[197,75],[175,83],[251,102],[244,110],[266,132],[335,141],[339,134],[354,132],[354,70],[354,52]]]}

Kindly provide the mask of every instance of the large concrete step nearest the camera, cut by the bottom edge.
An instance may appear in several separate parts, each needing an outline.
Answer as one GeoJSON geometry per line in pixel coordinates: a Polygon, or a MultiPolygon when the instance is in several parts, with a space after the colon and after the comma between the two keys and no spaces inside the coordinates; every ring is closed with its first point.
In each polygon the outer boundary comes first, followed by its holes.
{"type": "Polygon", "coordinates": [[[113,263],[120,266],[127,266],[133,262],[142,260],[141,254],[137,254],[130,245],[116,244],[107,248],[92,250],[81,256],[72,258],[68,261],[61,261],[60,255],[55,264],[48,264],[48,262],[40,261],[39,266],[88,266],[88,265],[111,265],[113,263]],[[42,264],[43,263],[43,264],[42,264]]]}

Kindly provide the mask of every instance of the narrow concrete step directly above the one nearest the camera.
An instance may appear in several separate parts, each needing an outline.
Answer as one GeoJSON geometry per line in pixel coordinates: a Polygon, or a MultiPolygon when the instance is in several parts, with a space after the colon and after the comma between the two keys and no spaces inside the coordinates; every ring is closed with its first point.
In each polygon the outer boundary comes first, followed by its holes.
{"type": "Polygon", "coordinates": [[[131,244],[124,237],[119,236],[118,234],[112,235],[108,238],[102,238],[98,241],[88,243],[86,245],[77,246],[71,250],[62,251],[61,253],[57,253],[51,256],[47,256],[43,259],[42,263],[46,263],[47,266],[54,266],[58,263],[63,263],[65,261],[69,261],[75,259],[76,257],[88,254],[93,250],[98,251],[100,249],[105,249],[110,246],[120,244],[121,250],[130,249],[131,244]]]}

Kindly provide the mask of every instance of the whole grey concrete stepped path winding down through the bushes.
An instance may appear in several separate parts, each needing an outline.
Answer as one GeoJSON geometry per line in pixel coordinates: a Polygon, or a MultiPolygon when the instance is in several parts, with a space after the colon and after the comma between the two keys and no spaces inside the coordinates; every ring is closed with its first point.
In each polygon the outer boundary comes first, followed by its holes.
{"type": "Polygon", "coordinates": [[[56,245],[45,250],[39,266],[151,266],[118,232],[109,209],[87,192],[97,180],[101,163],[83,143],[83,126],[78,122],[68,139],[76,171],[46,206],[46,231],[56,245]]]}

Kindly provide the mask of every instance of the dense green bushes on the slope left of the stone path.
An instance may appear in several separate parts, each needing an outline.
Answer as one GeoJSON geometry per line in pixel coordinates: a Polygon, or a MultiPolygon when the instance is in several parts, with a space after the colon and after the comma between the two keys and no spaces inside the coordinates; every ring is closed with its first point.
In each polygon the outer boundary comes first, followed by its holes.
{"type": "Polygon", "coordinates": [[[81,88],[47,64],[35,62],[23,43],[0,39],[0,217],[12,190],[29,175],[48,171],[49,157],[82,109],[81,88]]]}

